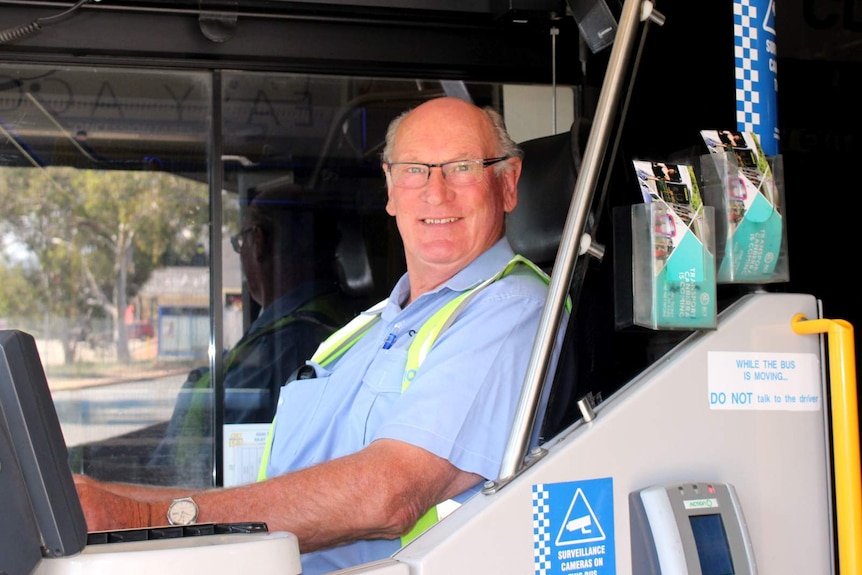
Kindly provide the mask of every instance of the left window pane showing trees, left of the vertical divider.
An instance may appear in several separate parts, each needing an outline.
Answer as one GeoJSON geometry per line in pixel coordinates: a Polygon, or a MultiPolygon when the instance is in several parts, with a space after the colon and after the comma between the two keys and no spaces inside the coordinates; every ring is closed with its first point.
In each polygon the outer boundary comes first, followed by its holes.
{"type": "Polygon", "coordinates": [[[137,446],[206,359],[209,92],[0,68],[0,327],[36,338],[75,471],[145,480],[137,446]]]}

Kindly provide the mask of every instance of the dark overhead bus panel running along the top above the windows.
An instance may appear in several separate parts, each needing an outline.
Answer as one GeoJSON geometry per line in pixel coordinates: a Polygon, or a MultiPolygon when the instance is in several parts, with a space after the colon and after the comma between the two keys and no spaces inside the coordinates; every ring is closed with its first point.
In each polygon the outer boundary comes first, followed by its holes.
{"type": "Polygon", "coordinates": [[[570,5],[582,2],[3,0],[0,53],[88,65],[545,84],[555,77],[576,85],[584,78],[570,5]]]}

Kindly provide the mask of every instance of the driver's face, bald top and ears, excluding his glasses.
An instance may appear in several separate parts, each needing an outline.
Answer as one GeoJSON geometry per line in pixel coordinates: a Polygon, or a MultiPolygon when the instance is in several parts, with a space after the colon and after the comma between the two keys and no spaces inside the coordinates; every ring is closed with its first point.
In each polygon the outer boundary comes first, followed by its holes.
{"type": "MultiPolygon", "coordinates": [[[[498,155],[490,123],[476,108],[434,101],[404,119],[392,162],[437,164],[498,155]]],[[[421,188],[401,188],[387,179],[386,211],[395,216],[410,270],[463,269],[503,235],[504,217],[517,205],[520,160],[499,176],[482,171],[475,185],[453,186],[432,168],[421,188]]]]}

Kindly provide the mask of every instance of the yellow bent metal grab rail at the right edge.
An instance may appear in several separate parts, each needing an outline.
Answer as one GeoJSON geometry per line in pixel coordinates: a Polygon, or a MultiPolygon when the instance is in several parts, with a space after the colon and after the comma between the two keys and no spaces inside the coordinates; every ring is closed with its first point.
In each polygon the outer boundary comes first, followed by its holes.
{"type": "Polygon", "coordinates": [[[835,465],[835,507],[838,524],[839,572],[862,574],[862,479],[859,465],[859,413],[856,403],[856,356],[853,326],[844,320],[791,320],[798,334],[828,334],[832,397],[832,449],[835,465]]]}

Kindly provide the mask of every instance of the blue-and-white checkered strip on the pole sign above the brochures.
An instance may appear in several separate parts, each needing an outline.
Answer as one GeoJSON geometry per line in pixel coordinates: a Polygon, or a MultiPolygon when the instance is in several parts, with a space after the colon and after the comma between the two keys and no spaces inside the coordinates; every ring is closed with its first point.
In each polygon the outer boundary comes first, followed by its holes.
{"type": "Polygon", "coordinates": [[[733,2],[733,50],[736,77],[736,122],[741,132],[760,132],[758,14],[751,0],[733,2]]]}

